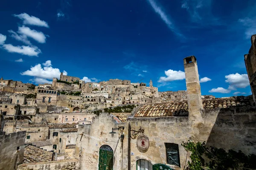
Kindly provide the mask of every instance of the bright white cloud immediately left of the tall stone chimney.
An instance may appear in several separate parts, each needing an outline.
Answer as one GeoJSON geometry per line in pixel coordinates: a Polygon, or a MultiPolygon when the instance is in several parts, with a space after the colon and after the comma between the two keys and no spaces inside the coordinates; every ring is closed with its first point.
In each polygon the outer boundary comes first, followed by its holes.
{"type": "Polygon", "coordinates": [[[183,80],[185,79],[185,72],[183,71],[174,71],[174,70],[167,70],[164,71],[166,77],[160,77],[157,82],[171,82],[174,80],[183,80]]]}

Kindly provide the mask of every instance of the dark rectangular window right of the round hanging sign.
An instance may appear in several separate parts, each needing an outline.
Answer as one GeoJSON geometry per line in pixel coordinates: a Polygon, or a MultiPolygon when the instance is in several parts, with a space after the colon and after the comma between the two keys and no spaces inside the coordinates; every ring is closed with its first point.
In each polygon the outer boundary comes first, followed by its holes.
{"type": "Polygon", "coordinates": [[[175,143],[165,143],[167,164],[180,167],[179,145],[175,143]]]}

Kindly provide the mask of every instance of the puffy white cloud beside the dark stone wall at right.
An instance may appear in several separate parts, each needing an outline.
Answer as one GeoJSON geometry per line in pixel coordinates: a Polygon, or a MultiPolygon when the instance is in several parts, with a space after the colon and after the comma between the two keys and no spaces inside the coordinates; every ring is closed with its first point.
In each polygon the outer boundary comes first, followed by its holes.
{"type": "Polygon", "coordinates": [[[229,83],[229,90],[236,90],[236,88],[246,88],[250,85],[247,74],[229,74],[225,76],[225,82],[229,83]]]}

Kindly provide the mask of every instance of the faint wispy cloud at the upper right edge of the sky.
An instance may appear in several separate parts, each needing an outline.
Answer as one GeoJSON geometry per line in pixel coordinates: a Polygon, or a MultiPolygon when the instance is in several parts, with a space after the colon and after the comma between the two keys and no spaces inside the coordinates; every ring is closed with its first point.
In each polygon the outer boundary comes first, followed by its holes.
{"type": "Polygon", "coordinates": [[[244,34],[246,38],[250,38],[253,34],[256,34],[256,17],[254,18],[243,18],[238,20],[240,23],[245,26],[244,34]]]}

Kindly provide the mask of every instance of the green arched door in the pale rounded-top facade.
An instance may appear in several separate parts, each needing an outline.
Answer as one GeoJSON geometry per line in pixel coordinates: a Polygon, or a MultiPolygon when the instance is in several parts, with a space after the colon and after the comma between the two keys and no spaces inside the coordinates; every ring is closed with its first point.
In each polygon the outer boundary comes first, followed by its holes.
{"type": "Polygon", "coordinates": [[[99,148],[99,170],[113,170],[113,149],[106,144],[99,148]]]}

